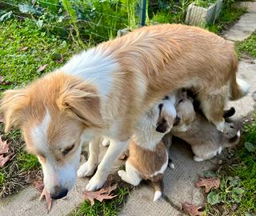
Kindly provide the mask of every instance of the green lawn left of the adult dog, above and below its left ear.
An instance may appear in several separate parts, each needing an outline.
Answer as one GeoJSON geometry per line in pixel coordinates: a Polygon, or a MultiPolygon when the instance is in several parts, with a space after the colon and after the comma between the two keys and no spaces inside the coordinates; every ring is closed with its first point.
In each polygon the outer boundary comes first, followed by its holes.
{"type": "MultiPolygon", "coordinates": [[[[38,29],[35,22],[29,19],[11,19],[0,26],[0,74],[4,82],[0,82],[0,95],[3,90],[25,86],[35,78],[54,70],[78,51],[78,46],[62,40],[53,34],[38,29]],[[40,66],[46,69],[38,71],[40,66]]],[[[26,185],[26,175],[31,170],[40,168],[38,159],[27,154],[25,142],[20,130],[3,133],[2,139],[7,140],[14,158],[0,169],[0,197],[13,194],[26,185]]]]}

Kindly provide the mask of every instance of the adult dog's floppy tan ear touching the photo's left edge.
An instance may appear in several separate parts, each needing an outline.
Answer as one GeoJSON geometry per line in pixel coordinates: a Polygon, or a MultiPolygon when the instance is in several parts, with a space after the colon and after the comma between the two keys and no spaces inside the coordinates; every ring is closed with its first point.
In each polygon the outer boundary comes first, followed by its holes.
{"type": "Polygon", "coordinates": [[[11,127],[18,128],[25,119],[25,111],[28,104],[25,90],[6,90],[1,103],[0,112],[4,115],[5,132],[9,132],[11,127]]]}

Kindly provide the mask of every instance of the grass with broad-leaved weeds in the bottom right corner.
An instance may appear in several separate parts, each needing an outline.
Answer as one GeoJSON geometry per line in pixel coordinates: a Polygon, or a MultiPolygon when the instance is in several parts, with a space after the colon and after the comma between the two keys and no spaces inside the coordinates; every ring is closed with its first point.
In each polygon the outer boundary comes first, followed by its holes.
{"type": "Polygon", "coordinates": [[[256,214],[256,115],[244,127],[242,137],[240,150],[218,172],[220,189],[207,196],[207,215],[256,214]]]}

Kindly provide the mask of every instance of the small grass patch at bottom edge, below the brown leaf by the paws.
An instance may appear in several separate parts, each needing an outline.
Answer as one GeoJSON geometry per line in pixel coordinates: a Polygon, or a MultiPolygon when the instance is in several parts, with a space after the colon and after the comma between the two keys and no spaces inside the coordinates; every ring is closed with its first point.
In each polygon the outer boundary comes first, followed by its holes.
{"type": "Polygon", "coordinates": [[[118,212],[121,210],[126,196],[129,194],[129,188],[126,186],[119,186],[118,189],[114,191],[114,194],[117,194],[115,198],[103,202],[96,201],[94,203],[94,206],[90,206],[90,202],[85,201],[77,210],[74,210],[74,212],[71,213],[70,216],[117,215],[118,212]]]}

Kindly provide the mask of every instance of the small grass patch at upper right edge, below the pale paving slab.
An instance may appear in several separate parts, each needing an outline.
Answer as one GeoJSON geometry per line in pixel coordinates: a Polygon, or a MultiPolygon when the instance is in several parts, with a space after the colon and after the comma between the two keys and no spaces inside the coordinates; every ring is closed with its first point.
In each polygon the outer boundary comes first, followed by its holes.
{"type": "Polygon", "coordinates": [[[252,58],[256,58],[256,33],[242,42],[236,42],[236,48],[238,54],[246,54],[252,58]]]}

